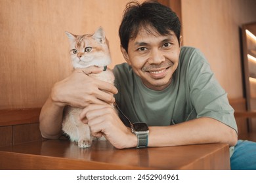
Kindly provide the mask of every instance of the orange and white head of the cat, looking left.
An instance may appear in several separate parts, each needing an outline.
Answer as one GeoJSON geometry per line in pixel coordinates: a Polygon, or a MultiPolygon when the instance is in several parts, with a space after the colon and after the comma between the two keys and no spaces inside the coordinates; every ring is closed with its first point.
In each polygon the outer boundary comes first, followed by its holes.
{"type": "Polygon", "coordinates": [[[73,35],[68,32],[66,35],[70,41],[70,56],[75,69],[110,64],[110,50],[102,27],[98,27],[93,35],[73,35]]]}

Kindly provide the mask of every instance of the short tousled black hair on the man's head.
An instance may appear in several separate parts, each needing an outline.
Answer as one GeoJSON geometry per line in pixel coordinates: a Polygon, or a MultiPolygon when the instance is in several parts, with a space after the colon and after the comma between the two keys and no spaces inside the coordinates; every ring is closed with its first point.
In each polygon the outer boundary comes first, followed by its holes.
{"type": "Polygon", "coordinates": [[[129,39],[137,37],[141,27],[146,31],[153,27],[160,35],[167,35],[171,30],[175,33],[180,44],[181,22],[177,14],[158,1],[144,1],[142,4],[137,1],[127,3],[119,27],[121,46],[126,52],[129,39]]]}

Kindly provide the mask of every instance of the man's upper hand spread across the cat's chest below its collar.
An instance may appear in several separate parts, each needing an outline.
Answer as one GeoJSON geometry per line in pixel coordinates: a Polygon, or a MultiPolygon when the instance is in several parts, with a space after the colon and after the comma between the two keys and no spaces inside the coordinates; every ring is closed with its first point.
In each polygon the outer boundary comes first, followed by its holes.
{"type": "Polygon", "coordinates": [[[103,67],[88,67],[75,69],[72,75],[54,84],[51,92],[53,103],[60,107],[70,105],[84,108],[89,104],[114,103],[113,94],[117,93],[113,84],[87,76],[91,73],[100,73],[103,67]]]}

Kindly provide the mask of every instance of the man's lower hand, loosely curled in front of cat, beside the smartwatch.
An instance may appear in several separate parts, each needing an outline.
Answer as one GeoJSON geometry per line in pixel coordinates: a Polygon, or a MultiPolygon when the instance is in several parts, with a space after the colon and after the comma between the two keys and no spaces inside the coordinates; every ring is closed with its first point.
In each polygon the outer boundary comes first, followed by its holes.
{"type": "Polygon", "coordinates": [[[104,137],[116,148],[137,146],[137,137],[119,119],[111,105],[89,105],[83,109],[80,119],[91,128],[94,137],[104,137]]]}

